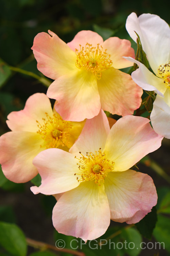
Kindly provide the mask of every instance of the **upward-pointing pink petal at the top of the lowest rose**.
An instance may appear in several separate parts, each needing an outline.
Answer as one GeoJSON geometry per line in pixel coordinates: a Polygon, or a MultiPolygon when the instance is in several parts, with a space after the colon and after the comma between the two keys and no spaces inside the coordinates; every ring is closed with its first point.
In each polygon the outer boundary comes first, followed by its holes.
{"type": "Polygon", "coordinates": [[[85,126],[74,145],[70,148],[71,154],[82,154],[86,152],[95,153],[99,148],[104,149],[107,135],[110,131],[106,114],[100,110],[99,115],[92,119],[87,119],[85,126]]]}

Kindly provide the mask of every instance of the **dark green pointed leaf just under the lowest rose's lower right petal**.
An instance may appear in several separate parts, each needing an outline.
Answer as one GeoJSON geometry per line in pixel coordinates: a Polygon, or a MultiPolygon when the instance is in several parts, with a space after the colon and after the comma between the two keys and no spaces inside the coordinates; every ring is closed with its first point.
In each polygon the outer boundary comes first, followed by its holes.
{"type": "Polygon", "coordinates": [[[149,212],[140,222],[136,223],[136,227],[142,236],[150,239],[152,236],[152,232],[155,228],[157,222],[157,213],[156,207],[152,208],[152,211],[149,212]]]}

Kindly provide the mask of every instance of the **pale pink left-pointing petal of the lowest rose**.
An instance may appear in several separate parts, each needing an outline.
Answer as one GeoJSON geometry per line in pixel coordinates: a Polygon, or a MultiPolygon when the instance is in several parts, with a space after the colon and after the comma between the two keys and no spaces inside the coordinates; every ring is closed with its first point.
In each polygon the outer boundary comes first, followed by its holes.
{"type": "Polygon", "coordinates": [[[54,195],[79,186],[74,173],[77,161],[74,156],[58,148],[49,148],[38,154],[33,160],[41,176],[41,185],[31,187],[34,194],[54,195]]]}

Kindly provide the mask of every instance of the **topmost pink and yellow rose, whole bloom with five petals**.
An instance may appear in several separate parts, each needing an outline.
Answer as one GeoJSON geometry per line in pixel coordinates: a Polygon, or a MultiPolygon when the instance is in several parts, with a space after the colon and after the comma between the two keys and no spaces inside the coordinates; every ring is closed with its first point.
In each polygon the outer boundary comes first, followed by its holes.
{"type": "Polygon", "coordinates": [[[96,32],[80,31],[66,44],[48,32],[36,35],[32,49],[38,70],[55,80],[47,96],[57,100],[55,109],[65,120],[90,119],[101,108],[122,116],[139,108],[142,89],[119,70],[132,66],[122,58],[134,57],[130,41],[103,42],[96,32]]]}

